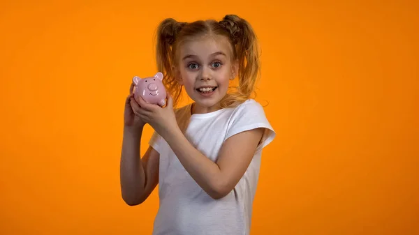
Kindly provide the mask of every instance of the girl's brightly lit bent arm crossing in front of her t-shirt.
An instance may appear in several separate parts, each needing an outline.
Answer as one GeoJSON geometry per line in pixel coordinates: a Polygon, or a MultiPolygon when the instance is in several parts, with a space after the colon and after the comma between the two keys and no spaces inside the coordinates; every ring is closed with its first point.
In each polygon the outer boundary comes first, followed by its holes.
{"type": "Polygon", "coordinates": [[[200,153],[179,128],[168,133],[166,142],[187,172],[213,199],[228,195],[240,181],[263,136],[263,128],[240,132],[229,137],[213,162],[200,153]]]}

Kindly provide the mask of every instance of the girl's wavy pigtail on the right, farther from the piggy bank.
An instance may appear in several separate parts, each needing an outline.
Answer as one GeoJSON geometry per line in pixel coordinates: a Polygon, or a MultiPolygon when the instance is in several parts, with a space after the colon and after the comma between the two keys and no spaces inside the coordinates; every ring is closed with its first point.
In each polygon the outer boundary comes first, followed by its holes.
{"type": "MultiPolygon", "coordinates": [[[[219,24],[230,33],[239,63],[239,86],[231,100],[246,100],[255,93],[256,80],[260,75],[259,48],[256,33],[246,20],[237,15],[226,15],[219,24]]],[[[226,101],[228,102],[228,101],[226,101]]],[[[230,102],[233,104],[233,102],[230,102]]]]}

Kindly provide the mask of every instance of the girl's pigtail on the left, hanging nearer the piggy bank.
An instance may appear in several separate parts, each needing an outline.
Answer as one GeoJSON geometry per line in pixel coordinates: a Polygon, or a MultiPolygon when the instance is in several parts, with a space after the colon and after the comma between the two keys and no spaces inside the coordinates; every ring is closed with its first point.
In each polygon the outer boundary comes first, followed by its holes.
{"type": "Polygon", "coordinates": [[[157,69],[163,73],[163,84],[173,98],[175,107],[182,93],[182,86],[172,73],[172,46],[176,41],[177,34],[185,23],[177,22],[172,18],[163,20],[156,31],[156,63],[157,69]]]}

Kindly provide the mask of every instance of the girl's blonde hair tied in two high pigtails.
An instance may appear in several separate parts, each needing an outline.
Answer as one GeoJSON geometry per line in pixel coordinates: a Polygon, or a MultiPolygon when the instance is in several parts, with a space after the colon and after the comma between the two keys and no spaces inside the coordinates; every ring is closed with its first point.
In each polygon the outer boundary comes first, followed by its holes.
{"type": "Polygon", "coordinates": [[[163,73],[163,84],[173,98],[176,107],[182,95],[182,85],[177,82],[172,66],[177,64],[178,48],[184,40],[197,36],[226,36],[233,48],[233,61],[238,61],[238,86],[221,100],[220,106],[232,107],[251,98],[260,77],[259,48],[256,34],[246,20],[237,15],[226,15],[223,20],[198,20],[177,22],[172,18],[163,20],[156,31],[157,69],[163,73]]]}

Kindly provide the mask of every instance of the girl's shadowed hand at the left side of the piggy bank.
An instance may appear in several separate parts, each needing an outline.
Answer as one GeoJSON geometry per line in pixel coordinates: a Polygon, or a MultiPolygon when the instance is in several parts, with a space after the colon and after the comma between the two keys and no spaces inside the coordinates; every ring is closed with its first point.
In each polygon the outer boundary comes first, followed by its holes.
{"type": "Polygon", "coordinates": [[[145,121],[142,121],[140,116],[135,114],[135,110],[140,109],[140,105],[134,99],[133,88],[134,84],[132,83],[129,96],[125,100],[124,125],[128,128],[139,129],[145,125],[145,121]]]}

